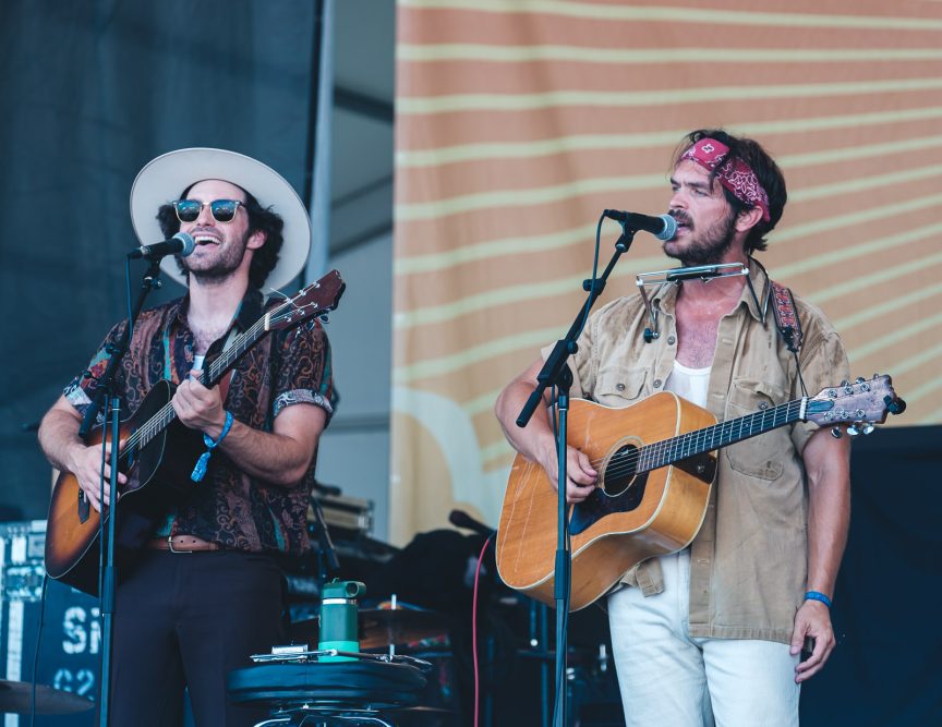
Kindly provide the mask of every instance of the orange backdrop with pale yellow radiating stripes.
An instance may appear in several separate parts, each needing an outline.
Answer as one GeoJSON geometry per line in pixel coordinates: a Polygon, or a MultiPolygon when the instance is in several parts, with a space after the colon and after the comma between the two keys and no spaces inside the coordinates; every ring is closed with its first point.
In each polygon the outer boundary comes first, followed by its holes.
{"type": "MultiPolygon", "coordinates": [[[[780,161],[789,204],[760,259],[824,308],[855,375],[893,375],[897,423],[942,421],[940,0],[398,8],[395,541],[455,506],[496,524],[497,392],[584,300],[601,210],[664,211],[700,126],[780,161]]],[[[641,234],[611,294],[672,265],[641,234]]]]}

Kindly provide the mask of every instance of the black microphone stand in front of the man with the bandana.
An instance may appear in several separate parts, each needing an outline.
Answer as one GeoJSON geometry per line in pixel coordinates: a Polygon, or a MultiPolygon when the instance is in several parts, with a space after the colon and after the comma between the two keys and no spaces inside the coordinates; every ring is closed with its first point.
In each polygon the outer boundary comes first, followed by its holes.
{"type": "Polygon", "coordinates": [[[558,414],[559,426],[556,440],[556,457],[557,457],[557,494],[558,494],[558,513],[557,513],[557,534],[556,534],[556,562],[554,574],[553,597],[556,601],[556,708],[554,710],[554,724],[561,727],[566,719],[566,649],[567,634],[566,623],[569,616],[569,589],[570,589],[570,567],[571,556],[569,554],[569,520],[566,508],[566,444],[567,444],[567,427],[569,416],[569,389],[572,386],[572,372],[566,363],[567,359],[576,353],[578,346],[576,339],[582,331],[585,320],[589,317],[589,312],[595,304],[595,301],[605,290],[605,283],[608,276],[615,268],[615,264],[623,253],[627,253],[635,240],[637,229],[627,226],[621,227],[621,234],[615,241],[615,253],[605,270],[600,278],[584,280],[582,288],[589,293],[589,299],[576,316],[576,320],[569,327],[569,331],[564,338],[556,341],[553,351],[546,356],[543,368],[536,375],[536,388],[523,409],[520,410],[520,415],[517,417],[517,426],[526,427],[536,410],[536,405],[543,399],[543,392],[547,386],[555,386],[558,390],[556,397],[556,412],[558,414]]]}

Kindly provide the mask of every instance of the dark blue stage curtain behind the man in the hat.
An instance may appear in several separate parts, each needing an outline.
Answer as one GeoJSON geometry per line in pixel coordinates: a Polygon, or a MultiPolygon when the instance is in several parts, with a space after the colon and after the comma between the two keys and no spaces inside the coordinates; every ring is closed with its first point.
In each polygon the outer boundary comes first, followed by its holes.
{"type": "MultiPolygon", "coordinates": [[[[173,148],[219,146],[305,190],[315,7],[0,4],[0,520],[46,517],[49,467],[24,428],[126,316],[137,171],[173,148]]],[[[181,292],[168,282],[148,304],[181,292]]]]}

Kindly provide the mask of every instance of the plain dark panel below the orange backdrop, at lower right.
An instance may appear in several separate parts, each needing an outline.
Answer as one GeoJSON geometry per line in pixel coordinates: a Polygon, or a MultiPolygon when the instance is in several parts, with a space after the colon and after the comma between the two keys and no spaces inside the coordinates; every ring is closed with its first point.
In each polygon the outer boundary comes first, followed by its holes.
{"type": "Polygon", "coordinates": [[[858,439],[834,599],[837,647],[802,687],[801,724],[942,724],[942,426],[858,439]]]}

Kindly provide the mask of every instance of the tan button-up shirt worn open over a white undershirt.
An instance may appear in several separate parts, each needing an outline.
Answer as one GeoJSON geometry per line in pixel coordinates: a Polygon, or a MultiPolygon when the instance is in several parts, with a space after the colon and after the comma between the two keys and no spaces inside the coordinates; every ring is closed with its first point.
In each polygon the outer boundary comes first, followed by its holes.
{"type": "MultiPolygon", "coordinates": [[[[753,267],[753,286],[764,275],[753,267]]],[[[579,339],[573,397],[626,407],[662,391],[674,367],[677,288],[653,296],[660,337],[643,339],[651,322],[640,295],[594,313],[579,339]]],[[[761,300],[761,298],[760,298],[761,300]]],[[[841,338],[817,307],[795,299],[805,334],[801,373],[808,393],[849,379],[841,338]]],[[[720,421],[802,396],[795,355],[766,323],[744,287],[737,307],[720,320],[706,408],[720,421]]],[[[801,452],[818,427],[796,423],[726,447],[708,511],[690,554],[690,635],[787,643],[801,605],[808,566],[807,506],[801,452]]],[[[661,567],[647,560],[625,574],[645,595],[663,590],[661,567]]]]}

